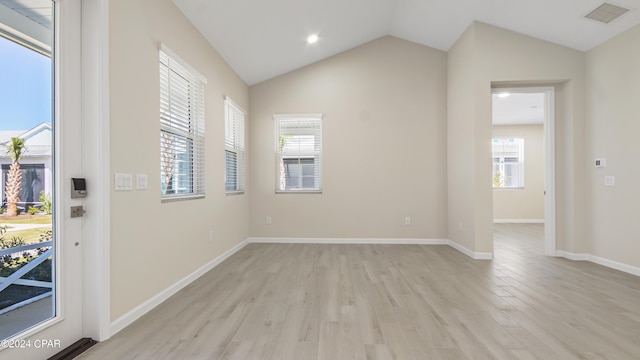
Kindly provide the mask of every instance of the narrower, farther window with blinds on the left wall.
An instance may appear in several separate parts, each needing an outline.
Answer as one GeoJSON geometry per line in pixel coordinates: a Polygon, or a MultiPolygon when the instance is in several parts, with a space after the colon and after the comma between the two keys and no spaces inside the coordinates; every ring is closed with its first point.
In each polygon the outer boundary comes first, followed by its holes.
{"type": "Polygon", "coordinates": [[[243,192],[244,167],[244,111],[227,97],[224,101],[224,159],[227,193],[243,192]]]}

